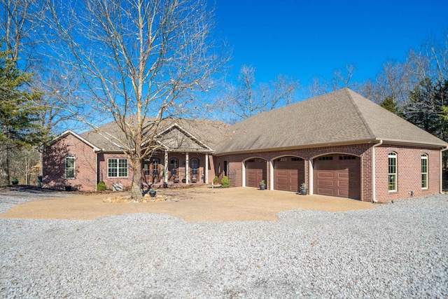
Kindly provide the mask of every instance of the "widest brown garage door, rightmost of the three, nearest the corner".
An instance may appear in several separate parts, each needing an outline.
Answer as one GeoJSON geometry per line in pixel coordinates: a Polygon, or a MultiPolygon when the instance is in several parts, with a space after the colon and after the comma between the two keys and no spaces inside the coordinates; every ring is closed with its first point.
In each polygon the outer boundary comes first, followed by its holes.
{"type": "Polygon", "coordinates": [[[360,158],[334,154],[314,159],[314,194],[360,199],[360,158]]]}

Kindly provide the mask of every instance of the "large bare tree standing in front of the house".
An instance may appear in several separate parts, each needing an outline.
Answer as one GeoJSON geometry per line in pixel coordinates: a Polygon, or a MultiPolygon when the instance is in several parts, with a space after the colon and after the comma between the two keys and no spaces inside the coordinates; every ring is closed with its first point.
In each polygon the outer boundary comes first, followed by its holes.
{"type": "Polygon", "coordinates": [[[96,112],[78,116],[123,148],[134,169],[132,197],[141,197],[141,160],[158,148],[160,123],[207,104],[203,95],[228,59],[211,39],[212,11],[206,0],[48,1],[48,6],[48,26],[63,41],[51,53],[82,78],[78,99],[96,112]],[[114,120],[122,137],[102,132],[101,120],[114,120]]]}

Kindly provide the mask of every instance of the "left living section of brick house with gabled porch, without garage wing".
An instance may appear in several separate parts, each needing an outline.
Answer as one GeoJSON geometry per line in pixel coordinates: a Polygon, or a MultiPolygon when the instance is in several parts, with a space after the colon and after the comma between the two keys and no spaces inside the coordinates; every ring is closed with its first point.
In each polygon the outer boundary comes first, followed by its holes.
{"type": "MultiPolygon", "coordinates": [[[[155,137],[160,149],[142,163],[144,186],[213,181],[211,155],[228,125],[221,121],[186,119],[165,123],[155,137]]],[[[110,189],[115,183],[130,188],[132,162],[108,134],[119,139],[123,132],[111,122],[82,134],[69,130],[53,139],[43,153],[43,186],[95,190],[97,183],[104,181],[110,189]]]]}

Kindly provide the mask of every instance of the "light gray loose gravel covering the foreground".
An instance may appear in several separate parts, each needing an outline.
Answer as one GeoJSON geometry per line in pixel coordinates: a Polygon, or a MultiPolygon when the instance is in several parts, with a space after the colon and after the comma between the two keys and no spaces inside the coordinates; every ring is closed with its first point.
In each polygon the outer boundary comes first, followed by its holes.
{"type": "Polygon", "coordinates": [[[448,297],[447,195],[279,216],[229,223],[158,214],[0,218],[0,296],[448,297]]]}

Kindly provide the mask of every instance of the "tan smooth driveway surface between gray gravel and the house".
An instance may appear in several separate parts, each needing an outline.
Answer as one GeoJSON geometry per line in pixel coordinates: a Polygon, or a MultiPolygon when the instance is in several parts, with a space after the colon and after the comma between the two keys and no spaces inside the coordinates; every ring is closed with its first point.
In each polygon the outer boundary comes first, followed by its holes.
{"type": "MultiPolygon", "coordinates": [[[[276,221],[279,211],[349,211],[375,207],[369,202],[320,195],[297,195],[255,188],[159,189],[162,202],[108,203],[118,194],[77,195],[35,200],[12,207],[0,218],[93,219],[118,214],[155,213],[183,218],[187,222],[204,221],[276,221]]],[[[126,196],[127,193],[120,193],[126,196]]]]}

